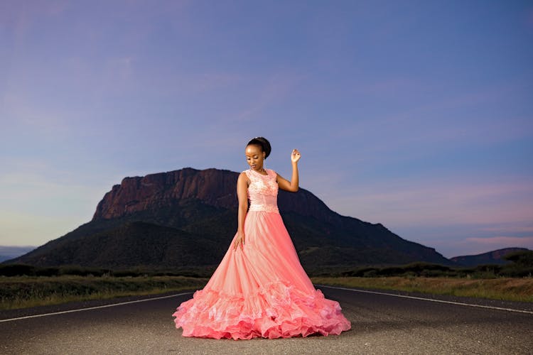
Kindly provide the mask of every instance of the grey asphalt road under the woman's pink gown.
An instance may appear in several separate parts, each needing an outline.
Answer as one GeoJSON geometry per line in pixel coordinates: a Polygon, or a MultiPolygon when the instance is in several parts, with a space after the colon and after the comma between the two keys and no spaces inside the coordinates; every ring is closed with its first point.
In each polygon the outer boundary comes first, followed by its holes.
{"type": "MultiPolygon", "coordinates": [[[[338,336],[200,339],[181,336],[172,313],[192,293],[101,307],[95,302],[0,312],[0,354],[532,354],[530,305],[489,307],[327,288],[352,329],[338,336]],[[92,310],[14,319],[55,310],[92,310]],[[524,311],[525,310],[525,311],[524,311]],[[11,320],[10,320],[11,319],[11,320]]],[[[122,300],[124,301],[124,300],[122,300]]],[[[453,301],[448,299],[448,301],[453,301]]],[[[463,300],[460,300],[463,302],[463,300]]],[[[110,301],[107,301],[110,302],[110,301]]],[[[114,302],[117,302],[116,300],[114,302]]]]}

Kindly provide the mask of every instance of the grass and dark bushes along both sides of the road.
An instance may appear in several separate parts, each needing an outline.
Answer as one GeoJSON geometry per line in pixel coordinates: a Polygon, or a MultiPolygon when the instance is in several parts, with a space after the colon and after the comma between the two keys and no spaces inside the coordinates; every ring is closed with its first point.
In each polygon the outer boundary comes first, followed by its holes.
{"type": "MultiPolygon", "coordinates": [[[[331,266],[308,270],[308,274],[313,283],[324,285],[533,302],[533,251],[511,253],[506,259],[512,263],[475,268],[431,263],[331,266]]],[[[112,271],[79,266],[0,265],[0,309],[196,290],[203,288],[213,271],[215,266],[112,271]]]]}

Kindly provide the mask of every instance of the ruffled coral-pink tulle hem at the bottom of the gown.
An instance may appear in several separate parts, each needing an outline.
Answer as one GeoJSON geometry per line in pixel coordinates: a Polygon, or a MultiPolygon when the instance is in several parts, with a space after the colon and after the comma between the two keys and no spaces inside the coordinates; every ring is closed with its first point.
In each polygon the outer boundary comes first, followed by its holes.
{"type": "Polygon", "coordinates": [[[214,339],[289,338],[340,334],[351,328],[338,302],[321,290],[307,294],[276,281],[252,295],[230,295],[210,288],[197,290],[173,313],[183,337],[214,339]]]}

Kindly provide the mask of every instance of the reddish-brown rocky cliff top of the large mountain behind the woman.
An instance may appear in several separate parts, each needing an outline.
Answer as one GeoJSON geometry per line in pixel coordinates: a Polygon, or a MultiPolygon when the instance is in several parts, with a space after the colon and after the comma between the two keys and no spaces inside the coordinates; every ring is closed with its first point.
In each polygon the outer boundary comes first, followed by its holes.
{"type": "MultiPolygon", "coordinates": [[[[239,173],[229,170],[193,168],[124,178],[120,185],[114,185],[104,195],[92,220],[155,211],[188,199],[202,200],[215,207],[237,209],[237,178],[239,173]]],[[[280,191],[278,204],[281,212],[295,212],[328,222],[338,219],[321,200],[307,190],[300,189],[296,193],[280,191]]]]}

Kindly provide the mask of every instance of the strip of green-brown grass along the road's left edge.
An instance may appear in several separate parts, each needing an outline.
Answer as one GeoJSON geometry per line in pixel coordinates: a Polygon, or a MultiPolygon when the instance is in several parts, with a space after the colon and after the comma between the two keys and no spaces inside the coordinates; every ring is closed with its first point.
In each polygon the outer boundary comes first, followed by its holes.
{"type": "Polygon", "coordinates": [[[58,305],[131,295],[203,288],[207,278],[184,276],[17,276],[0,277],[0,310],[58,305]]]}

